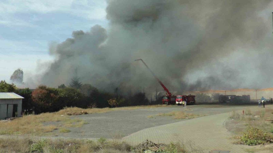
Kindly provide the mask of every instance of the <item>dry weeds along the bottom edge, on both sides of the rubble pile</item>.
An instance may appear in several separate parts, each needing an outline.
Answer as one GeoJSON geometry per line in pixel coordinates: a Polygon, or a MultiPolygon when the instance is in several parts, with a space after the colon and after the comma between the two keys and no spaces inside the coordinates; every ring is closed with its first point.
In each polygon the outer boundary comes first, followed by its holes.
{"type": "MultiPolygon", "coordinates": [[[[44,153],[63,153],[63,152],[81,152],[81,153],[141,153],[134,147],[122,141],[119,138],[106,140],[99,138],[97,141],[87,139],[42,139],[32,141],[30,139],[0,139],[0,150],[3,152],[44,152],[44,153]],[[16,144],[16,145],[14,145],[16,144]]],[[[156,153],[146,150],[145,152],[156,153]]],[[[157,153],[203,153],[200,148],[195,147],[192,142],[190,145],[184,145],[180,142],[170,142],[166,150],[157,151],[157,153]]]]}

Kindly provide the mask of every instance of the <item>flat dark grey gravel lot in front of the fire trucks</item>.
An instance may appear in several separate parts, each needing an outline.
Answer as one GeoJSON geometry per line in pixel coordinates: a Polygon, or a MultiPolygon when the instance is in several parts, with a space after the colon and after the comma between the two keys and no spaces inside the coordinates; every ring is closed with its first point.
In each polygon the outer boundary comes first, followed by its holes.
{"type": "MultiPolygon", "coordinates": [[[[194,105],[188,106],[187,109],[189,110],[185,112],[200,115],[214,115],[243,109],[245,107],[246,106],[194,105]]],[[[72,116],[72,118],[82,119],[88,124],[84,124],[79,128],[66,127],[66,129],[71,131],[68,133],[59,133],[58,130],[56,130],[53,132],[53,135],[66,138],[113,138],[117,135],[119,137],[125,137],[143,129],[186,120],[172,119],[171,116],[156,116],[159,113],[181,110],[184,110],[183,106],[169,106],[72,116]],[[148,118],[147,116],[154,117],[148,118]]]]}

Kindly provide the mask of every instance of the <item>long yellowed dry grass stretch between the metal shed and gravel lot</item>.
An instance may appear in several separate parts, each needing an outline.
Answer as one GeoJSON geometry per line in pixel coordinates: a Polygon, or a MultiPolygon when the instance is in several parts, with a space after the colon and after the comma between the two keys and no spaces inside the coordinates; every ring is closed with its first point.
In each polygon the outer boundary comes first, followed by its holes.
{"type": "Polygon", "coordinates": [[[15,134],[33,134],[43,135],[57,129],[56,125],[44,125],[45,122],[59,122],[59,125],[65,127],[81,127],[87,122],[80,119],[70,119],[70,115],[82,115],[92,113],[104,113],[116,110],[130,110],[143,108],[165,107],[164,105],[149,105],[149,106],[132,106],[118,108],[90,108],[82,109],[77,107],[69,107],[58,112],[42,113],[39,115],[23,116],[22,118],[14,119],[11,122],[0,122],[0,135],[15,135],[15,134]]]}

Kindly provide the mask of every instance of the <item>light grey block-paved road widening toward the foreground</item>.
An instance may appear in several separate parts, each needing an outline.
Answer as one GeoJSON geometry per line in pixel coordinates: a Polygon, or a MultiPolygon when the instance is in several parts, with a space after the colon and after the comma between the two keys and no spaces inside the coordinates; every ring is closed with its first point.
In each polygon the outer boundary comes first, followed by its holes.
{"type": "MultiPolygon", "coordinates": [[[[251,106],[251,109],[256,109],[251,106]]],[[[211,116],[204,116],[197,119],[190,119],[161,125],[148,129],[143,129],[123,139],[131,144],[139,144],[146,139],[153,142],[168,144],[170,141],[176,142],[192,141],[196,146],[202,148],[204,152],[211,150],[226,150],[231,152],[245,152],[244,145],[233,145],[232,134],[224,128],[225,120],[230,113],[222,113],[211,116]]]]}

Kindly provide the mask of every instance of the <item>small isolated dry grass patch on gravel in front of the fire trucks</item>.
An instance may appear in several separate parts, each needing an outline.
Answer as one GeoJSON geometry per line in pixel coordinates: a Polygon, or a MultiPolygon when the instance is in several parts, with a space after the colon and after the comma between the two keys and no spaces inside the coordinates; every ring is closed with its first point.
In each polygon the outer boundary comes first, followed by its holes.
{"type": "Polygon", "coordinates": [[[194,119],[204,115],[186,113],[182,111],[172,111],[169,113],[159,113],[157,116],[173,116],[174,119],[194,119]]]}

